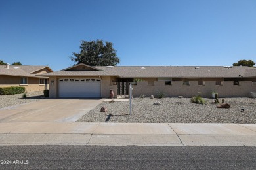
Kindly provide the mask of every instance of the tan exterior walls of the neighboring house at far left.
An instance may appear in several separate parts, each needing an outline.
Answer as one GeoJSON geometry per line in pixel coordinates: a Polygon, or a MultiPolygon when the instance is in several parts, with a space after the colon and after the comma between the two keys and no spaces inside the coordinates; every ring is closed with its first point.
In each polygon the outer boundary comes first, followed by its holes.
{"type": "Polygon", "coordinates": [[[45,85],[39,84],[40,78],[27,77],[28,84],[20,84],[20,76],[3,76],[0,75],[0,87],[22,86],[26,88],[26,92],[35,92],[45,90],[45,85]]]}

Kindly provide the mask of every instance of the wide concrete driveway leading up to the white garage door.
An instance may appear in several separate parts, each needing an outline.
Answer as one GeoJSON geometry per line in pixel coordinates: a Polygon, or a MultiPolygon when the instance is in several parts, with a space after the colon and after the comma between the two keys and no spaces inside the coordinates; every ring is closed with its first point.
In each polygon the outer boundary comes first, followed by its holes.
{"type": "Polygon", "coordinates": [[[43,99],[0,109],[0,122],[75,122],[102,101],[102,99],[43,99]]]}

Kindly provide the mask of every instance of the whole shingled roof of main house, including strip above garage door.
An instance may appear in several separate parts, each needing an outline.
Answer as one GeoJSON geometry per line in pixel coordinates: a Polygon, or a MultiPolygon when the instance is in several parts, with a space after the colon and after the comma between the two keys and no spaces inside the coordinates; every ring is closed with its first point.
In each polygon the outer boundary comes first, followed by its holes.
{"type": "MultiPolygon", "coordinates": [[[[97,66],[102,71],[56,71],[44,76],[119,76],[122,78],[238,78],[255,76],[252,67],[222,66],[116,66],[113,68],[97,66]],[[140,69],[144,67],[144,69],[140,69]],[[239,76],[240,75],[240,76],[239,76]]],[[[40,75],[39,75],[40,76],[40,75]]]]}

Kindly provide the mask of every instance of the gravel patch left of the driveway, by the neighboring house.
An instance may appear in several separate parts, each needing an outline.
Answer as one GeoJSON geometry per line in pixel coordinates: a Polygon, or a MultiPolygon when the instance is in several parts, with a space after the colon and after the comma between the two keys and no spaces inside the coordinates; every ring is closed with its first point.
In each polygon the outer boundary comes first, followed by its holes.
{"type": "Polygon", "coordinates": [[[22,103],[29,103],[32,101],[40,100],[41,96],[43,96],[43,91],[39,92],[28,92],[27,98],[22,98],[23,94],[16,95],[0,95],[0,108],[9,107],[12,105],[20,105],[22,103]]]}

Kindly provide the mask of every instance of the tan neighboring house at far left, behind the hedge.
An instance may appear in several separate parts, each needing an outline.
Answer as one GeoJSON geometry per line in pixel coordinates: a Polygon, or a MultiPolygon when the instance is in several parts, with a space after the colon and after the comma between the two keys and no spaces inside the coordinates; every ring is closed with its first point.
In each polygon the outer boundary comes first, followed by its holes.
{"type": "Polygon", "coordinates": [[[0,65],[0,87],[22,86],[26,92],[42,91],[49,88],[47,77],[35,74],[53,72],[47,66],[0,65]]]}

